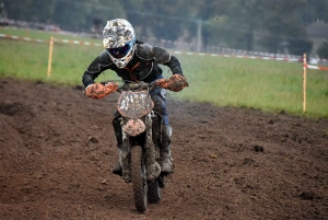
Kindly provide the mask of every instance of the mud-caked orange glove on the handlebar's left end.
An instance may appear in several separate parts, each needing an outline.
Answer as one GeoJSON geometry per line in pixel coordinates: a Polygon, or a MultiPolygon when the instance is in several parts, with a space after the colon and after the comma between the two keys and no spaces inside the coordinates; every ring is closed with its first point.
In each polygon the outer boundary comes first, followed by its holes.
{"type": "Polygon", "coordinates": [[[103,85],[102,83],[94,83],[85,88],[84,95],[87,97],[99,100],[115,92],[117,89],[118,84],[115,82],[108,82],[105,85],[103,85]]]}

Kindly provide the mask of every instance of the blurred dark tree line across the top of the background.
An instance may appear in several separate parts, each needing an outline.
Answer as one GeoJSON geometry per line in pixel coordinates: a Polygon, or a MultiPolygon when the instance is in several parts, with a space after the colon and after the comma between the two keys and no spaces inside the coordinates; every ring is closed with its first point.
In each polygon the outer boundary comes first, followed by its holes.
{"type": "Polygon", "coordinates": [[[190,42],[302,55],[312,50],[306,26],[328,23],[328,0],[0,0],[9,19],[91,32],[124,18],[140,38],[190,42]]]}

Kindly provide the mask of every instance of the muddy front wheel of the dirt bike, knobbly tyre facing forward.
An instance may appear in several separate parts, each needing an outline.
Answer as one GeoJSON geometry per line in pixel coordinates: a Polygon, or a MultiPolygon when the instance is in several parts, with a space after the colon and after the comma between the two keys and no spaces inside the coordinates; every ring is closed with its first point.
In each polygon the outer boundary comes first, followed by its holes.
{"type": "Polygon", "coordinates": [[[147,178],[145,166],[142,161],[142,148],[134,146],[131,148],[131,169],[134,205],[139,212],[147,209],[147,178]]]}

